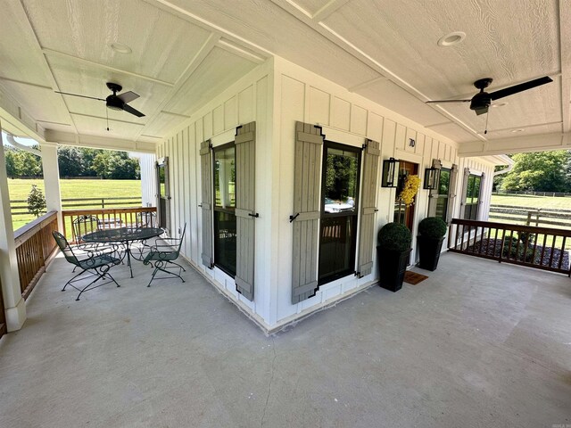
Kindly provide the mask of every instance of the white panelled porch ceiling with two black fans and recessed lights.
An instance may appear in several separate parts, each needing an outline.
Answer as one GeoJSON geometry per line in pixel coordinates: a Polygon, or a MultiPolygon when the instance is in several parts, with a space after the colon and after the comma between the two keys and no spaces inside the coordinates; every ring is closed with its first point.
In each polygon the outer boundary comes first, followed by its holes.
{"type": "Polygon", "coordinates": [[[567,0],[9,0],[0,14],[0,89],[79,136],[159,142],[273,54],[459,143],[570,130],[567,0]],[[465,40],[437,45],[451,31],[465,40]],[[468,103],[425,103],[471,98],[478,78],[493,91],[545,75],[490,109],[485,136],[468,103]],[[54,93],[104,98],[107,81],[141,95],[130,105],[146,116],[54,93]]]}

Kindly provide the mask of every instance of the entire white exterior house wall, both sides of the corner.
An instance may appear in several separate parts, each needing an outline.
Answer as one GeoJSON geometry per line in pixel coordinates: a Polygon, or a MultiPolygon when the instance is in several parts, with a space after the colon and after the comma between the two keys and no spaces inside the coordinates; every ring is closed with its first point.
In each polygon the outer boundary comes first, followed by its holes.
{"type": "MultiPolygon", "coordinates": [[[[169,156],[171,225],[173,235],[185,222],[183,254],[212,284],[248,315],[268,329],[285,325],[313,310],[374,284],[377,259],[371,275],[347,276],[319,288],[316,296],[291,303],[294,206],[294,122],[319,124],[327,139],[360,146],[365,138],[381,143],[380,161],[391,156],[419,164],[418,175],[433,159],[444,167],[459,166],[454,214],[459,212],[463,169],[485,173],[483,194],[489,195],[493,165],[476,159],[460,159],[458,144],[426,129],[377,103],[348,92],[291,62],[273,58],[216,96],[159,145],[157,157],[169,156]],[[218,268],[205,268],[201,260],[202,210],[199,148],[211,139],[214,146],[234,140],[236,127],[256,121],[256,219],[254,301],[236,292],[234,279],[218,268]],[[416,141],[414,147],[409,139],[416,141]]],[[[377,192],[377,230],[393,221],[395,189],[377,192]]],[[[420,189],[415,206],[413,236],[418,221],[426,217],[428,191],[420,189]]],[[[489,198],[481,212],[487,212],[489,198]]],[[[484,218],[482,218],[484,219],[484,218]]],[[[416,239],[413,240],[413,247],[416,239]]],[[[358,247],[358,246],[357,246],[358,247]]],[[[373,250],[373,249],[371,249],[373,250]]],[[[416,249],[413,251],[416,254],[416,249]]]]}

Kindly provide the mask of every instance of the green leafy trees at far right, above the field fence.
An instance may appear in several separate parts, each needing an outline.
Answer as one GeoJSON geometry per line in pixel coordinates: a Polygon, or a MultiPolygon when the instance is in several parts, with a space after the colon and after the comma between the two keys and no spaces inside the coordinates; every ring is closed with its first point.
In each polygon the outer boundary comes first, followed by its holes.
{"type": "Polygon", "coordinates": [[[531,152],[517,153],[516,161],[501,188],[503,190],[531,190],[538,192],[566,192],[569,190],[567,168],[570,152],[531,152]]]}

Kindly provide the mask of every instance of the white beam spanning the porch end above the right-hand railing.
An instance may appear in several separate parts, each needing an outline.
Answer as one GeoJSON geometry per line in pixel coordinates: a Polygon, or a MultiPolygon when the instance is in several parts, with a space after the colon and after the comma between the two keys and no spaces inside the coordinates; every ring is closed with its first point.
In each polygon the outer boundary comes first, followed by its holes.
{"type": "Polygon", "coordinates": [[[547,152],[571,149],[571,133],[537,134],[534,136],[512,136],[489,141],[471,141],[459,144],[459,157],[486,156],[520,152],[547,152]]]}

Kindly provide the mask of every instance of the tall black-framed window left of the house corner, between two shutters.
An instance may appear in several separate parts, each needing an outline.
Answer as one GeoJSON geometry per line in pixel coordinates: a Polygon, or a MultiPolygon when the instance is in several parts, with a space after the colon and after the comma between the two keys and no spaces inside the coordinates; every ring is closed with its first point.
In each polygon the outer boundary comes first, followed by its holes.
{"type": "Polygon", "coordinates": [[[236,148],[234,143],[213,149],[214,264],[236,276],[236,148]]]}

